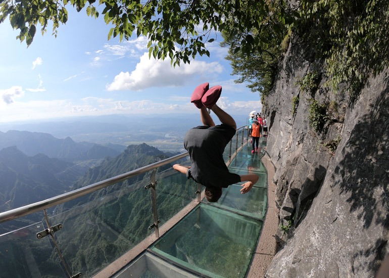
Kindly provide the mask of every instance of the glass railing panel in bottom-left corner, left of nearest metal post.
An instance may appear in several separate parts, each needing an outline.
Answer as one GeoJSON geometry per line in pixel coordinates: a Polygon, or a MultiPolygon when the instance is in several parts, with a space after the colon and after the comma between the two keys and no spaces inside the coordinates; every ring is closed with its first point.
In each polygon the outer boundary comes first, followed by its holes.
{"type": "MultiPolygon", "coordinates": [[[[26,221],[19,218],[19,221],[26,221]]],[[[0,224],[7,228],[9,223],[0,224]]],[[[46,227],[37,222],[0,235],[1,277],[67,277],[54,248],[51,236],[41,239],[36,234],[46,227]]]]}

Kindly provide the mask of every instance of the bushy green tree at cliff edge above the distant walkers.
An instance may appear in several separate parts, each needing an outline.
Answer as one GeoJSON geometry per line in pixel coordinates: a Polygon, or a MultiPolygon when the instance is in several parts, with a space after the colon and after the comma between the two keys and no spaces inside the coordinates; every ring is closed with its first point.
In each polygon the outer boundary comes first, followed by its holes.
{"type": "Polygon", "coordinates": [[[282,0],[268,2],[266,9],[266,16],[262,16],[259,24],[250,29],[254,37],[261,38],[259,51],[248,53],[241,47],[236,34],[227,31],[222,32],[224,41],[221,43],[229,47],[226,59],[231,62],[232,74],[240,76],[235,82],[248,82],[248,87],[262,96],[266,96],[274,84],[282,54],[281,41],[293,22],[293,12],[286,11],[287,7],[282,0]]]}

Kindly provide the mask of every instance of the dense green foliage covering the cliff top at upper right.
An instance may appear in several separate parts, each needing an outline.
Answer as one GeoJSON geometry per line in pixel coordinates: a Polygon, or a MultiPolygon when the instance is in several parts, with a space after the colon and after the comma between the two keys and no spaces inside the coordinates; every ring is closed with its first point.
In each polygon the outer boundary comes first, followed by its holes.
{"type": "MultiPolygon", "coordinates": [[[[286,46],[282,43],[291,33],[315,53],[318,61],[324,61],[321,73],[327,85],[334,91],[348,91],[352,101],[368,77],[389,64],[387,0],[273,1],[269,7],[269,17],[262,18],[262,28],[257,29],[259,36],[270,38],[262,51],[248,56],[230,49],[227,57],[233,73],[241,76],[236,82],[249,81],[253,91],[266,96],[271,90],[282,47],[286,46]]],[[[235,40],[230,33],[223,32],[223,36],[226,44],[235,40]]]]}

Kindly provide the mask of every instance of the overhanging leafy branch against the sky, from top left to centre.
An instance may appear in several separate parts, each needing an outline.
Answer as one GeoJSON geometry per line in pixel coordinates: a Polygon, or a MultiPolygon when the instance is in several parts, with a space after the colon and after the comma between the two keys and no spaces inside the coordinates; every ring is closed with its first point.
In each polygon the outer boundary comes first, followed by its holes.
{"type": "Polygon", "coordinates": [[[53,23],[53,34],[68,20],[67,7],[88,16],[99,17],[102,11],[107,24],[112,24],[108,39],[149,38],[149,54],[156,59],[170,58],[174,65],[189,63],[197,55],[209,56],[205,43],[212,42],[215,31],[225,31],[239,42],[236,48],[246,53],[261,52],[266,43],[251,32],[259,29],[269,12],[266,0],[0,0],[0,23],[9,17],[13,28],[20,30],[18,39],[32,43],[37,26],[44,34],[53,23]],[[68,6],[67,6],[68,5],[68,6]],[[98,8],[101,6],[100,8],[98,8]]]}

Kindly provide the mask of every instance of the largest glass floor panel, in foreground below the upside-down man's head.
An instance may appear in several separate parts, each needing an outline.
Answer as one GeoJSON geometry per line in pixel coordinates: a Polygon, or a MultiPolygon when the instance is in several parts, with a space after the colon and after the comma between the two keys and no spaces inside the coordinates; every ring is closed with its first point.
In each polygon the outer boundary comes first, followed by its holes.
{"type": "Polygon", "coordinates": [[[245,277],[263,222],[199,204],[151,251],[210,277],[245,277]]]}

